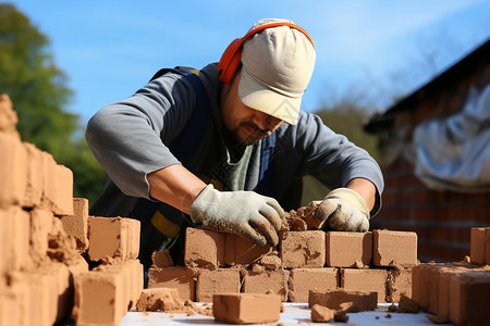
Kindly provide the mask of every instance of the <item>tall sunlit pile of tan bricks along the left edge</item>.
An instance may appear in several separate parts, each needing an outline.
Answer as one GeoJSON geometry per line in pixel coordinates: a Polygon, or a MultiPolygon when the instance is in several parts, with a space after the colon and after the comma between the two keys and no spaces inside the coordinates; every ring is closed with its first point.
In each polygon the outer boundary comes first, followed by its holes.
{"type": "Polygon", "coordinates": [[[0,326],[52,325],[70,318],[74,304],[81,325],[119,325],[143,288],[139,225],[124,218],[90,225],[97,217],[88,216],[86,199],[73,199],[72,172],[23,142],[16,123],[1,95],[0,326]],[[85,252],[106,263],[88,272],[85,252]],[[84,319],[87,299],[103,310],[99,319],[84,319]]]}

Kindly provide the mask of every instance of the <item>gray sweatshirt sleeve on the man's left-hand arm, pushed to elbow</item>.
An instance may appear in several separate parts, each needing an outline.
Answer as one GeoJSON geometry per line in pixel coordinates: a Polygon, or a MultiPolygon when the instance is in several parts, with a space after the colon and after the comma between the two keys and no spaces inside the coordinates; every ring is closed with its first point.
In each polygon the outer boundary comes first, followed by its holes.
{"type": "Polygon", "coordinates": [[[168,146],[185,126],[195,101],[192,84],[168,73],[89,120],[87,143],[122,192],[149,199],[147,174],[180,164],[168,146]]]}

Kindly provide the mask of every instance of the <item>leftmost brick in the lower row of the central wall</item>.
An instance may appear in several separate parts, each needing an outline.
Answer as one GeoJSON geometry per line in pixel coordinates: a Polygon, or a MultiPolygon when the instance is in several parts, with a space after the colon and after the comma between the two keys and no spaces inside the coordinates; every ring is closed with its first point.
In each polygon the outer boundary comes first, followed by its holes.
{"type": "Polygon", "coordinates": [[[182,299],[195,301],[195,272],[185,266],[150,267],[148,269],[148,288],[176,288],[182,299]]]}

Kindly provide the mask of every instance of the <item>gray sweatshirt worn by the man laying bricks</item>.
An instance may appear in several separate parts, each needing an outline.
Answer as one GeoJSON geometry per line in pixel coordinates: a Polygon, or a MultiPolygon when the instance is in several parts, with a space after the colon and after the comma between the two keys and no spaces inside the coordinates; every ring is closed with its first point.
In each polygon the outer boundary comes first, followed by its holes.
{"type": "MultiPolygon", "coordinates": [[[[88,122],[87,142],[110,179],[94,203],[90,214],[127,216],[138,198],[149,197],[147,175],[154,171],[183,164],[205,181],[220,175],[228,162],[229,148],[218,104],[222,84],[217,64],[200,71],[199,77],[209,100],[212,127],[195,141],[206,155],[179,160],[171,151],[172,142],[184,130],[195,108],[197,96],[187,78],[167,73],[148,83],[132,97],[111,103],[88,122]],[[224,134],[223,134],[224,133],[224,134]],[[185,161],[185,162],[182,162],[185,161]],[[198,164],[194,164],[199,162],[198,164]],[[210,176],[210,174],[213,174],[210,176]]],[[[366,178],[377,188],[371,215],[381,206],[383,190],[381,170],[364,150],[346,137],[333,133],[315,114],[301,111],[298,123],[286,123],[275,130],[275,146],[268,162],[269,176],[261,179],[261,141],[245,150],[245,173],[223,177],[223,190],[254,190],[275,198],[285,210],[297,209],[302,197],[302,178],[311,175],[330,189],[345,187],[353,178],[366,178]],[[237,176],[242,178],[236,181],[237,176]],[[228,178],[228,179],[226,179],[228,178]],[[229,179],[232,178],[232,179],[229,179]],[[261,185],[268,183],[268,185],[261,185]],[[230,186],[232,185],[232,186],[230,186]],[[236,186],[238,185],[238,186],[236,186]],[[267,187],[264,187],[267,186],[267,187]],[[241,189],[237,189],[241,188],[241,189]],[[267,190],[264,190],[267,189],[267,190]]],[[[230,166],[228,166],[230,167],[230,166]]]]}

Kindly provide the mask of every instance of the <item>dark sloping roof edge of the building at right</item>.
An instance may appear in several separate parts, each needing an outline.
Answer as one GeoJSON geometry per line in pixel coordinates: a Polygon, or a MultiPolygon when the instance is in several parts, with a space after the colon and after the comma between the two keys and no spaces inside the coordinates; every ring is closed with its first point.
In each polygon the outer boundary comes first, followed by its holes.
{"type": "Polygon", "coordinates": [[[364,129],[367,133],[376,134],[379,130],[389,128],[393,124],[393,117],[404,111],[415,110],[422,101],[434,93],[440,92],[471,74],[476,67],[490,62],[490,39],[479,46],[463,60],[438,75],[436,78],[394,103],[382,113],[376,113],[365,123],[364,129]]]}

